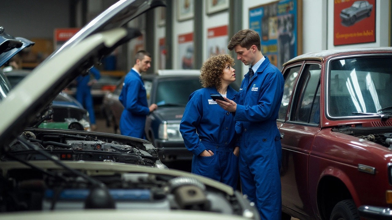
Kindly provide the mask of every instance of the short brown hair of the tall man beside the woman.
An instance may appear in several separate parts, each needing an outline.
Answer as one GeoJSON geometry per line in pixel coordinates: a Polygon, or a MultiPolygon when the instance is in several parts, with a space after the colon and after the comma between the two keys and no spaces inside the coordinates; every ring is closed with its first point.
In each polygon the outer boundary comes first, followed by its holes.
{"type": "Polygon", "coordinates": [[[252,45],[256,45],[257,49],[261,51],[260,36],[252,29],[243,29],[234,34],[229,44],[227,45],[227,49],[233,50],[237,45],[240,45],[247,50],[249,50],[252,45]]]}

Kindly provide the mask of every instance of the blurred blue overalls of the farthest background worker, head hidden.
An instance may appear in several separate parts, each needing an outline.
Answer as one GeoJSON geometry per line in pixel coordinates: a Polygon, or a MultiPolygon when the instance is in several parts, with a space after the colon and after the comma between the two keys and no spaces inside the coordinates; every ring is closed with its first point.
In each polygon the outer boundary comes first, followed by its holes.
{"type": "MultiPolygon", "coordinates": [[[[92,67],[89,70],[90,73],[94,75],[96,80],[101,78],[99,70],[95,67],[92,67]]],[[[76,87],[76,100],[80,102],[85,108],[87,112],[89,112],[90,124],[95,124],[95,114],[94,114],[94,106],[93,106],[93,97],[91,96],[90,86],[88,85],[90,81],[90,74],[87,76],[78,76],[76,78],[76,82],[78,83],[76,87]]]]}

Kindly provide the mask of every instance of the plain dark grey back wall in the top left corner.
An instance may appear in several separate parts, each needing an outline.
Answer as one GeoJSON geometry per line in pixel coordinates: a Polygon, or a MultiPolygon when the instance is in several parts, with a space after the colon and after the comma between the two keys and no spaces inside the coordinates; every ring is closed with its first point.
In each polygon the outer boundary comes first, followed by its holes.
{"type": "Polygon", "coordinates": [[[1,1],[0,26],[24,38],[53,38],[55,28],[69,27],[69,0],[1,1]]]}

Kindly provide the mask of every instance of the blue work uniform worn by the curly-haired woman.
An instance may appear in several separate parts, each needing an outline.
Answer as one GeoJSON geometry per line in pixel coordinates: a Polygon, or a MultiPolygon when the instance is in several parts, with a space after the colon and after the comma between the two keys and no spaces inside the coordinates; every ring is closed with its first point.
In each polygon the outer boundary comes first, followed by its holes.
{"type": "MultiPolygon", "coordinates": [[[[223,182],[234,189],[238,179],[238,157],[233,153],[236,122],[233,114],[212,100],[219,94],[215,87],[201,88],[189,96],[180,123],[185,146],[192,151],[192,173],[223,182]],[[197,133],[196,133],[197,132],[197,133]],[[204,150],[214,155],[202,157],[204,150]]],[[[238,92],[227,87],[227,98],[238,101],[238,92]]]]}

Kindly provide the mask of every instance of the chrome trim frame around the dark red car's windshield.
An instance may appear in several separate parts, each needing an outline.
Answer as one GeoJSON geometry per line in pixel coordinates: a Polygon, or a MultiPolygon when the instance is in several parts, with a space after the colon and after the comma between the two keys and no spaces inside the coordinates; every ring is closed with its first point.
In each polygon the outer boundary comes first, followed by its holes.
{"type": "Polygon", "coordinates": [[[357,54],[357,55],[342,55],[342,56],[337,56],[334,58],[331,58],[327,60],[326,64],[326,72],[325,72],[325,116],[327,119],[330,120],[344,120],[344,119],[371,119],[371,118],[381,118],[381,115],[353,115],[353,116],[341,116],[341,117],[334,117],[329,114],[329,102],[330,102],[330,91],[329,91],[329,77],[330,77],[330,68],[331,68],[331,63],[332,61],[335,60],[342,60],[342,59],[350,59],[350,58],[367,58],[367,57],[374,57],[374,56],[392,56],[392,54],[357,54]]]}

